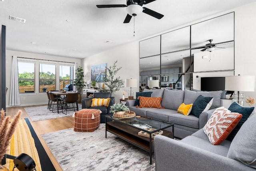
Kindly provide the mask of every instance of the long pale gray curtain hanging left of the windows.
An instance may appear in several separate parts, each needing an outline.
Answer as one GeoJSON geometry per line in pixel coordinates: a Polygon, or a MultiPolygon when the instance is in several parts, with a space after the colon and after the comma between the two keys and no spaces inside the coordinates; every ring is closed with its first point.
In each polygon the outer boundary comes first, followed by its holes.
{"type": "Polygon", "coordinates": [[[17,59],[17,56],[12,57],[12,76],[11,76],[9,105],[10,106],[20,105],[18,59],[17,59]]]}

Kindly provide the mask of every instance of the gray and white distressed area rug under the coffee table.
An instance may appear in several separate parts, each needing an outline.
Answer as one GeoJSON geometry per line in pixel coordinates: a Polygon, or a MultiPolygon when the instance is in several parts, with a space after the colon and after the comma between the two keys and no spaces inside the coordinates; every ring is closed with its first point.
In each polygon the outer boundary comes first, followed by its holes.
{"type": "Polygon", "coordinates": [[[149,153],[107,132],[105,124],[94,132],[73,128],[42,135],[64,171],[154,171],[149,153]]]}

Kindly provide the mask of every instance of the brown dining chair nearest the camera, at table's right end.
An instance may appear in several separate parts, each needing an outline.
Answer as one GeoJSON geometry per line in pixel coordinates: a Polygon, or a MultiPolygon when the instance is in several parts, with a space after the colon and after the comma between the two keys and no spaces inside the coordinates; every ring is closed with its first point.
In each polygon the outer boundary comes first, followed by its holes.
{"type": "Polygon", "coordinates": [[[62,113],[63,113],[63,109],[65,107],[65,111],[66,113],[64,114],[67,114],[67,109],[73,109],[74,108],[74,111],[78,111],[78,93],[68,93],[66,95],[66,99],[64,99],[62,101],[63,103],[63,107],[62,107],[62,113]],[[72,103],[72,107],[68,107],[68,104],[72,103]],[[74,103],[76,103],[76,108],[75,108],[75,105],[74,103]]]}

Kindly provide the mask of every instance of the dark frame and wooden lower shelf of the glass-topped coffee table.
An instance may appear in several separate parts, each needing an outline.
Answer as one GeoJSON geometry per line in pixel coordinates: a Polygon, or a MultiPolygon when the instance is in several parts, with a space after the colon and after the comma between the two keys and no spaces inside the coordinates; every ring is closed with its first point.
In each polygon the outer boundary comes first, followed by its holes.
{"type": "MultiPolygon", "coordinates": [[[[172,132],[164,130],[164,133],[162,135],[173,139],[174,124],[170,124],[169,127],[172,127],[172,132]]],[[[164,129],[166,128],[167,127],[165,127],[164,129]]],[[[144,131],[144,129],[141,129],[139,127],[132,127],[128,124],[125,124],[123,122],[120,122],[118,120],[115,120],[111,117],[106,116],[106,130],[105,130],[106,138],[107,138],[107,131],[120,137],[124,141],[127,141],[132,145],[135,145],[136,147],[143,149],[144,151],[147,151],[150,155],[150,165],[152,164],[152,154],[154,153],[154,148],[153,148],[154,139],[152,138],[151,134],[154,132],[149,133],[150,134],[149,138],[143,137],[138,135],[138,132],[144,131]]]]}

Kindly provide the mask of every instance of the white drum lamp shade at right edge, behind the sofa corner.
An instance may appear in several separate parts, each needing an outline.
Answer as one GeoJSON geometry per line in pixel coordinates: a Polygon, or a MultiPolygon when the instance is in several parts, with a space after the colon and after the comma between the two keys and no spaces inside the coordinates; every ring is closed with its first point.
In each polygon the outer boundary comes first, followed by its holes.
{"type": "Polygon", "coordinates": [[[255,76],[228,76],[225,89],[230,91],[254,91],[255,76]]]}

